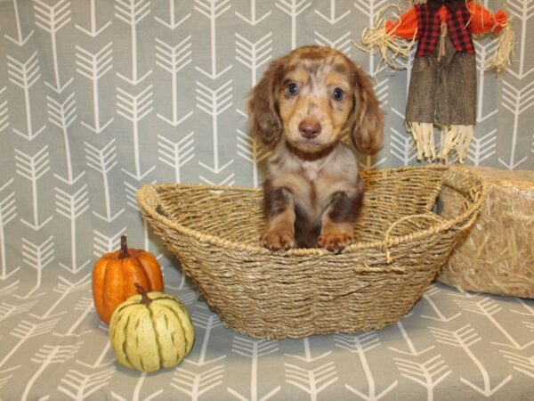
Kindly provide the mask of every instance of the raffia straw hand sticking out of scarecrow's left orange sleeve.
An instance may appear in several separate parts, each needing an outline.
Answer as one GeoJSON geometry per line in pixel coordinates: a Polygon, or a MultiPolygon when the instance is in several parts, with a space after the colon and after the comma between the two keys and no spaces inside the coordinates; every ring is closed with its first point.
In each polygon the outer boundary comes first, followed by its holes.
{"type": "MultiPolygon", "coordinates": [[[[397,59],[401,57],[408,60],[412,46],[416,43],[417,32],[411,40],[407,41],[399,37],[388,35],[385,31],[385,21],[387,18],[385,17],[384,12],[392,7],[400,10],[399,4],[384,5],[384,7],[376,12],[373,27],[363,29],[363,32],[361,33],[361,44],[363,46],[352,41],[352,45],[366,53],[373,53],[374,49],[378,49],[381,61],[376,70],[379,70],[382,62],[392,70],[406,70],[406,65],[397,62],[397,59]]],[[[401,20],[399,20],[399,25],[400,24],[401,20]]]]}

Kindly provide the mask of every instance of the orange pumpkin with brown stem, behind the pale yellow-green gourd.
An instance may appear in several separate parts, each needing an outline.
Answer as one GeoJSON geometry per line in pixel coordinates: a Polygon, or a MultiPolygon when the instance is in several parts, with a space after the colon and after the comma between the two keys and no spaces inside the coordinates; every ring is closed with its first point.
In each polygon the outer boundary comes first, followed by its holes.
{"type": "Polygon", "coordinates": [[[147,292],[163,291],[158,260],[146,250],[128,250],[126,236],[120,250],[106,253],[93,266],[93,300],[101,321],[109,324],[115,308],[137,294],[135,283],[147,292]]]}

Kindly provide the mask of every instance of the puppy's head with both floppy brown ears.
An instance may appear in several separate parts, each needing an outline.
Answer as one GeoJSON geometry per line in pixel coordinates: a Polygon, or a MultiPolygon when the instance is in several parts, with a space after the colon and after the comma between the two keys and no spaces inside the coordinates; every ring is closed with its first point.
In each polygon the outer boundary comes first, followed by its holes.
{"type": "Polygon", "coordinates": [[[382,145],[383,114],[368,76],[343,53],[304,46],[273,61],[252,89],[249,118],[263,143],[283,136],[299,151],[317,153],[344,128],[360,151],[382,145]]]}

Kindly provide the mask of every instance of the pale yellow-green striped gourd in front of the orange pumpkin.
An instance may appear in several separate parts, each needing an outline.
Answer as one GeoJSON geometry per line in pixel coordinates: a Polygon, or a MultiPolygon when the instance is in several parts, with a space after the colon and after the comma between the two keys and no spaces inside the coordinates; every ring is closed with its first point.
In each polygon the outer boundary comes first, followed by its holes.
{"type": "Polygon", "coordinates": [[[120,304],[109,323],[109,340],[117,362],[141,372],[155,372],[180,364],[193,346],[190,315],[177,299],[163,292],[148,294],[138,286],[120,304]]]}

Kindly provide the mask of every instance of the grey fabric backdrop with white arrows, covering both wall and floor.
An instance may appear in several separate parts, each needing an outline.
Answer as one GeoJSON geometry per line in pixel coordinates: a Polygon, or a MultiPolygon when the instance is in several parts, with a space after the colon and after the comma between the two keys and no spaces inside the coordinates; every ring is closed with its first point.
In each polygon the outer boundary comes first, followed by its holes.
{"type": "MultiPolygon", "coordinates": [[[[270,150],[250,132],[247,94],[299,45],[334,47],[373,75],[385,141],[374,157],[358,154],[361,167],[416,164],[400,111],[413,56],[392,74],[352,45],[387,3],[0,1],[0,398],[432,400],[453,388],[529,397],[530,299],[434,284],[384,331],[251,339],[224,327],[142,220],[142,184],[262,183],[270,150]],[[124,234],[154,252],[166,292],[190,310],[196,341],[174,369],[119,366],[95,314],[93,263],[124,234]]],[[[534,0],[482,3],[513,16],[516,44],[496,78],[483,64],[497,38],[475,40],[466,162],[532,170],[534,0]]]]}

